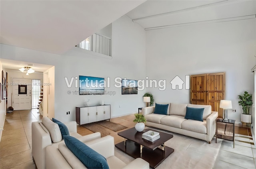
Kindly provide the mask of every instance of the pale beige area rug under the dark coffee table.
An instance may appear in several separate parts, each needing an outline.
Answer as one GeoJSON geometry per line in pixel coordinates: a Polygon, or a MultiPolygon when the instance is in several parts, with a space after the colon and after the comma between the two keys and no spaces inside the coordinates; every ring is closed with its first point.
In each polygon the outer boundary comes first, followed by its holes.
{"type": "MultiPolygon", "coordinates": [[[[152,128],[157,130],[156,128],[152,128]]],[[[162,130],[159,130],[162,131],[162,130]]],[[[211,169],[214,166],[218,151],[221,144],[211,143],[207,141],[183,136],[180,134],[162,131],[173,134],[173,138],[166,141],[165,145],[174,149],[169,157],[167,157],[157,169],[211,169]]],[[[215,140],[212,140],[215,141],[215,140]]],[[[129,163],[134,158],[126,153],[115,149],[115,155],[125,163],[129,163]]]]}

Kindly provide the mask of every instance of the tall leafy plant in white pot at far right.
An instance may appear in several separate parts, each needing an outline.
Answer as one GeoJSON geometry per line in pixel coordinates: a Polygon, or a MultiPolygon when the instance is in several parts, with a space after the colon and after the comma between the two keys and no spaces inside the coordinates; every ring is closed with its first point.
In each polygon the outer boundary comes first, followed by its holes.
{"type": "Polygon", "coordinates": [[[252,94],[248,92],[244,92],[242,95],[238,95],[240,101],[238,101],[239,105],[242,106],[243,114],[241,114],[241,122],[251,123],[252,115],[250,115],[250,108],[252,106],[252,94]]]}

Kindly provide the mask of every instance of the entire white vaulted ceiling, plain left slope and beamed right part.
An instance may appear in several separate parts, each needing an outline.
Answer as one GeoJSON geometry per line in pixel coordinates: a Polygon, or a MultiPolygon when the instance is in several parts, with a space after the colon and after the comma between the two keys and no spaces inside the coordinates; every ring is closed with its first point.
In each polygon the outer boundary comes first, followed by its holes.
{"type": "Polygon", "coordinates": [[[161,29],[255,19],[256,0],[0,0],[0,43],[63,54],[124,14],[161,29]]]}

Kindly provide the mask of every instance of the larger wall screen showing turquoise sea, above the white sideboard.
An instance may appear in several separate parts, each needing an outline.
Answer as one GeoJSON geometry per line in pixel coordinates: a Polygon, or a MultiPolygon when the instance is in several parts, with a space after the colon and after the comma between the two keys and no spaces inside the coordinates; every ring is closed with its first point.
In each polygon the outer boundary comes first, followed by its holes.
{"type": "Polygon", "coordinates": [[[79,94],[104,94],[105,80],[101,77],[79,76],[79,94]]]}

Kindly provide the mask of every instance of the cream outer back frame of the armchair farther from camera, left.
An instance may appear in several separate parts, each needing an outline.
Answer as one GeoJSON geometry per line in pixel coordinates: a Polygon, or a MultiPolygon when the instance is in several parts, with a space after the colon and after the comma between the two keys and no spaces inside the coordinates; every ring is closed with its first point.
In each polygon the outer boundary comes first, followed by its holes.
{"type": "Polygon", "coordinates": [[[47,134],[38,122],[32,122],[32,155],[38,169],[46,168],[46,147],[52,145],[50,134],[47,134]]]}

